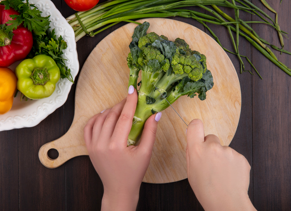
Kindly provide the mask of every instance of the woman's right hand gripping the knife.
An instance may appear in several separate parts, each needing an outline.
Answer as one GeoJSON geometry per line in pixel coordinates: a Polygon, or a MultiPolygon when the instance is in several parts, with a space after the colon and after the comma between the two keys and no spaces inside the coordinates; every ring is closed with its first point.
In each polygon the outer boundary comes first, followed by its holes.
{"type": "Polygon", "coordinates": [[[205,211],[255,210],[248,196],[248,161],[222,146],[217,136],[205,137],[199,119],[192,120],[187,129],[186,160],[189,183],[205,211]]]}

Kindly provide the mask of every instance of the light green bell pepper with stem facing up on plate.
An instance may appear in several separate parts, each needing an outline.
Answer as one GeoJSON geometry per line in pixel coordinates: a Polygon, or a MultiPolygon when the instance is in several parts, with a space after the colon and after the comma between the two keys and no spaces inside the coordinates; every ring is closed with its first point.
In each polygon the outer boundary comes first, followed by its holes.
{"type": "Polygon", "coordinates": [[[16,67],[15,73],[17,89],[30,99],[51,96],[61,75],[54,59],[46,55],[25,59],[16,67]]]}

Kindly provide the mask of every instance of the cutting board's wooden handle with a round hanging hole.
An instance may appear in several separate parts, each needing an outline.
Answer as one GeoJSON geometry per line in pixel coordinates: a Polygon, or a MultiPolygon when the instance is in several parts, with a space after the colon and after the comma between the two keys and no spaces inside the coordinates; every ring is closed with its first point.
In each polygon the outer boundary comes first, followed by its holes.
{"type": "Polygon", "coordinates": [[[61,138],[42,145],[38,152],[40,162],[47,168],[57,168],[73,157],[88,155],[84,142],[83,130],[75,130],[72,124],[71,128],[61,138]],[[50,149],[58,150],[56,159],[49,158],[47,152],[50,149]]]}

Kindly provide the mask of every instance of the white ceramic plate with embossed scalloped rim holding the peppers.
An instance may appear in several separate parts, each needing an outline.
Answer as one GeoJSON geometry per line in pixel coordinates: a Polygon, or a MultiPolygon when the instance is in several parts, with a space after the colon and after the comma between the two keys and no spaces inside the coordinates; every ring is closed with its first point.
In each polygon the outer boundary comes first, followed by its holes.
{"type": "MultiPolygon", "coordinates": [[[[71,69],[72,77],[75,79],[79,71],[79,62],[74,30],[52,1],[29,0],[29,3],[35,4],[42,11],[42,16],[50,15],[49,20],[52,21],[49,25],[51,27],[50,30],[54,28],[57,37],[62,35],[63,39],[67,42],[68,48],[64,50],[63,57],[68,59],[65,63],[71,69]]],[[[16,62],[9,68],[14,71],[19,63],[16,62]]],[[[17,97],[14,98],[11,110],[4,115],[0,115],[0,131],[37,125],[65,103],[72,84],[68,79],[60,79],[56,84],[54,93],[50,97],[40,100],[29,99],[25,101],[24,98],[20,101],[20,92],[18,92],[17,97]]]]}

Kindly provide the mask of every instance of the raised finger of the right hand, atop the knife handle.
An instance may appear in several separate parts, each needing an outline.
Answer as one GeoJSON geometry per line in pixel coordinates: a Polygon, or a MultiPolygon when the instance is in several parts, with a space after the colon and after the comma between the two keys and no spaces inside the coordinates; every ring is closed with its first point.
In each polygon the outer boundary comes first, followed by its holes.
{"type": "Polygon", "coordinates": [[[192,120],[187,128],[187,144],[204,142],[204,126],[200,119],[192,120]]]}

